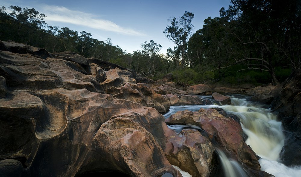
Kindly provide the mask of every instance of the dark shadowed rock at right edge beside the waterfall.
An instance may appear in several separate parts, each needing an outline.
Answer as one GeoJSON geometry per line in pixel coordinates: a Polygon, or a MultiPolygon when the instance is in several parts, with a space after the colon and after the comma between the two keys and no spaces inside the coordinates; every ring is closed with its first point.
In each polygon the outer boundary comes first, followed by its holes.
{"type": "Polygon", "coordinates": [[[272,109],[279,112],[286,132],[281,158],[286,165],[301,164],[301,70],[285,81],[281,94],[272,102],[272,109]]]}

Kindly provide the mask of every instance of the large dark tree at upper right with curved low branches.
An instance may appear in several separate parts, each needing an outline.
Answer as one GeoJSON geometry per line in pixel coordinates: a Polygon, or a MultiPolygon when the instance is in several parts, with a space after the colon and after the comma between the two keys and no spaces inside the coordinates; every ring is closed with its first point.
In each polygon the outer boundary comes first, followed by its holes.
{"type": "MultiPolygon", "coordinates": [[[[242,70],[261,70],[270,74],[274,85],[277,66],[300,68],[300,11],[298,0],[232,0],[221,17],[228,20],[227,33],[235,40],[227,51],[230,65],[242,64],[242,70]]],[[[226,66],[226,67],[228,67],[226,66]]]]}

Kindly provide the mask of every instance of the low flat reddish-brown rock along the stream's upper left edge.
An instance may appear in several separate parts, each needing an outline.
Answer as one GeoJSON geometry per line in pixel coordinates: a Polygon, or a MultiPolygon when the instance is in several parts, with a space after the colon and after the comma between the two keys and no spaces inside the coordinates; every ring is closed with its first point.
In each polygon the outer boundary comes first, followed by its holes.
{"type": "Polygon", "coordinates": [[[192,104],[203,104],[203,100],[194,95],[184,94],[167,94],[167,98],[171,105],[192,105],[192,104]]]}

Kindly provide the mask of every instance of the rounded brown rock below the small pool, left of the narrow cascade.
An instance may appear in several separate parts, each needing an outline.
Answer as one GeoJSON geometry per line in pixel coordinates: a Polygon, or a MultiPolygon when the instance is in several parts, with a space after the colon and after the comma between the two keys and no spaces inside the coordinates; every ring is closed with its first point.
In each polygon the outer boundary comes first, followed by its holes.
{"type": "Polygon", "coordinates": [[[194,129],[184,129],[178,137],[170,137],[173,151],[169,162],[192,176],[209,176],[213,164],[214,147],[207,137],[194,129]],[[180,138],[181,137],[181,138],[180,138]]]}

